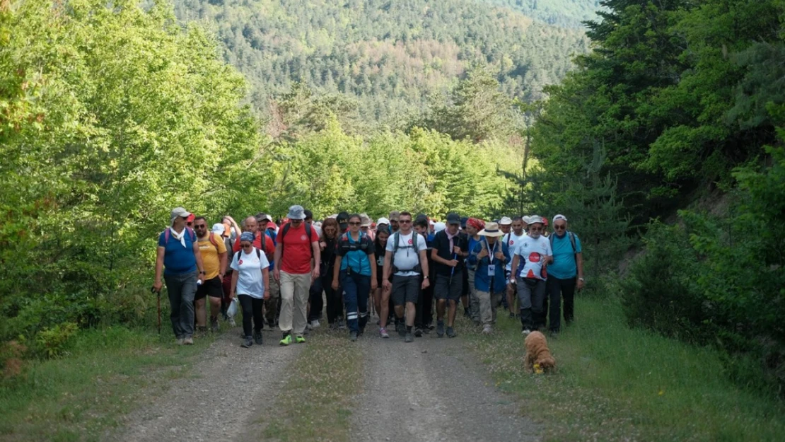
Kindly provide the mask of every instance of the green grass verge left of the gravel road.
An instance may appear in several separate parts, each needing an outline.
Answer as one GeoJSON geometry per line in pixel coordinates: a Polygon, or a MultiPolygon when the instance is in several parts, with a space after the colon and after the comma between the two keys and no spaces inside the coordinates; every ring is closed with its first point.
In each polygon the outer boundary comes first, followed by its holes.
{"type": "Polygon", "coordinates": [[[0,382],[0,440],[100,440],[142,391],[165,391],[213,341],[179,346],[170,336],[125,327],[81,331],[66,356],[28,361],[22,374],[0,382]]]}

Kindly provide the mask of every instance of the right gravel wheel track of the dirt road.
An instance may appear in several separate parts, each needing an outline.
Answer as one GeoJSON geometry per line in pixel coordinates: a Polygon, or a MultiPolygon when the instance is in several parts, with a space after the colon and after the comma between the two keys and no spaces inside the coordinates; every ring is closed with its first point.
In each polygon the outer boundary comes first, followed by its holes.
{"type": "MultiPolygon", "coordinates": [[[[373,327],[371,327],[373,328],[373,327]]],[[[352,422],[355,442],[539,440],[512,396],[493,386],[458,338],[435,333],[406,344],[366,334],[365,389],[352,422]]]]}

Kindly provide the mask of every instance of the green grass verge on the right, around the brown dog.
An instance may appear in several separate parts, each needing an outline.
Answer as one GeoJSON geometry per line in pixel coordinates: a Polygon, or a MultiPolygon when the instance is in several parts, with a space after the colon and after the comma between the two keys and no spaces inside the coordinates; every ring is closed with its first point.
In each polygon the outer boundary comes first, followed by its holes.
{"type": "Polygon", "coordinates": [[[783,440],[785,404],[733,384],[716,351],[632,330],[612,299],[580,298],[575,312],[549,338],[556,374],[524,373],[517,321],[500,318],[488,337],[462,333],[546,440],[783,440]]]}

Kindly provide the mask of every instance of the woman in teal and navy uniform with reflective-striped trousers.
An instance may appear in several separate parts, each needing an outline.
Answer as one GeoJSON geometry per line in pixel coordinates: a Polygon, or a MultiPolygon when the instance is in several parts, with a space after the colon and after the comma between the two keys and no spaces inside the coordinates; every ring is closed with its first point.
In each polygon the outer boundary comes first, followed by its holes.
{"type": "Polygon", "coordinates": [[[356,341],[368,322],[368,295],[377,287],[374,243],[360,232],[360,215],[349,216],[349,231],[341,235],[335,248],[335,268],[332,287],[338,282],[344,290],[346,323],[349,338],[356,341]]]}

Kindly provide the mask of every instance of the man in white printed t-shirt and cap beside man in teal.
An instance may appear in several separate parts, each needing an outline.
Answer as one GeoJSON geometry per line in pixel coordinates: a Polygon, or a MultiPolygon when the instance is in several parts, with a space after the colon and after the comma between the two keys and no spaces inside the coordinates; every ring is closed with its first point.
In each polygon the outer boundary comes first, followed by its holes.
{"type": "Polygon", "coordinates": [[[509,283],[517,285],[523,334],[545,327],[543,303],[548,279],[547,265],[553,261],[553,252],[550,250],[550,241],[542,236],[544,225],[542,217],[531,217],[528,235],[513,249],[512,268],[517,269],[517,275],[515,279],[510,276],[509,283]],[[520,268],[519,262],[523,262],[520,268]]]}

